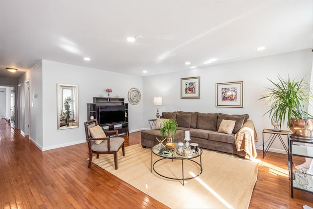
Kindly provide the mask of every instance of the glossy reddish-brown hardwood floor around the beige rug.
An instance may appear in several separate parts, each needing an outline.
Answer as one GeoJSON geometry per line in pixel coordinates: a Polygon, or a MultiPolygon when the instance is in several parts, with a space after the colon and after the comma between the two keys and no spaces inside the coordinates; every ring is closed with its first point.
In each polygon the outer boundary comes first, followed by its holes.
{"type": "MultiPolygon", "coordinates": [[[[140,132],[125,137],[126,146],[137,143],[140,132]]],[[[100,167],[88,168],[87,158],[87,143],[42,152],[1,119],[0,208],[167,208],[100,167]]],[[[313,207],[313,194],[290,193],[287,155],[268,152],[249,208],[313,207]]]]}

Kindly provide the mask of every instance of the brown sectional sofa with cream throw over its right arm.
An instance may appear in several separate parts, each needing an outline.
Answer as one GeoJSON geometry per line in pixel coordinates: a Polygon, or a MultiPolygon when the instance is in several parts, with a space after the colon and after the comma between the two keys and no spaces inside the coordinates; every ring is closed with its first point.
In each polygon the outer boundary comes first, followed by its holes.
{"type": "MultiPolygon", "coordinates": [[[[199,147],[236,154],[240,157],[252,159],[256,157],[254,141],[257,140],[254,124],[249,115],[227,115],[222,113],[198,112],[163,112],[162,118],[176,118],[178,123],[175,142],[185,142],[185,131],[190,132],[190,142],[199,147]],[[235,127],[231,134],[218,132],[222,120],[235,120],[235,127]]],[[[157,139],[161,139],[157,129],[141,132],[142,147],[153,147],[157,139]]]]}

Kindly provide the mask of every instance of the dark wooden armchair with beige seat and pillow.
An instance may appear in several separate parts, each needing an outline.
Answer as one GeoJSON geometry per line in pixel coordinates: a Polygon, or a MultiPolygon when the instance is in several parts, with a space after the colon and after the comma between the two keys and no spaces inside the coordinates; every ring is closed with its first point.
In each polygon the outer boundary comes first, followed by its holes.
{"type": "Polygon", "coordinates": [[[122,148],[123,156],[125,156],[125,147],[124,147],[124,138],[118,137],[118,131],[103,131],[102,128],[98,125],[98,120],[95,118],[93,120],[89,120],[85,122],[85,133],[86,133],[86,140],[88,143],[89,148],[89,164],[90,167],[92,162],[92,154],[97,154],[97,158],[99,158],[99,154],[113,154],[114,155],[114,165],[115,170],[117,169],[117,152],[120,148],[122,148]],[[96,127],[97,126],[97,127],[96,127]],[[99,127],[101,128],[102,132],[99,131],[99,127]],[[91,128],[91,131],[90,131],[91,128]],[[95,129],[97,129],[98,133],[95,133],[95,129]],[[105,133],[114,133],[116,137],[108,138],[106,137],[105,133]],[[93,136],[102,136],[102,137],[95,137],[93,136]]]}

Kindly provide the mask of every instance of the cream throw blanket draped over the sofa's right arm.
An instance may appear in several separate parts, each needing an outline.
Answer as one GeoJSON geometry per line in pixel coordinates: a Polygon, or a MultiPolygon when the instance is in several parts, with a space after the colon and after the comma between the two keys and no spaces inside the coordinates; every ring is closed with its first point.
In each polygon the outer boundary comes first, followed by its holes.
{"type": "Polygon", "coordinates": [[[237,151],[245,151],[246,159],[255,159],[257,154],[254,141],[258,141],[254,124],[252,120],[247,120],[243,127],[235,135],[237,151]]]}

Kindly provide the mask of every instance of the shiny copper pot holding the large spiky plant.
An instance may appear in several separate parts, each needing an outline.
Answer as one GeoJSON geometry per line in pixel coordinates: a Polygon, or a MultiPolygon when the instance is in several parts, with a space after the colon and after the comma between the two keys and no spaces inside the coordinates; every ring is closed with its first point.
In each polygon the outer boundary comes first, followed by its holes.
{"type": "Polygon", "coordinates": [[[305,119],[291,118],[288,127],[294,137],[313,139],[313,118],[308,118],[308,124],[305,119]]]}

